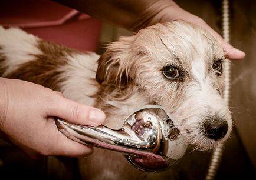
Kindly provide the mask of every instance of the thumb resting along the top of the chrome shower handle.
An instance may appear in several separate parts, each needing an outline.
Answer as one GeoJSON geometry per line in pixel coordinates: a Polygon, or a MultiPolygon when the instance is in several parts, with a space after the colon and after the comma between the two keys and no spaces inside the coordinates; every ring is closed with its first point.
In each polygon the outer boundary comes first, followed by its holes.
{"type": "Polygon", "coordinates": [[[105,114],[100,109],[79,104],[58,94],[55,95],[55,99],[52,99],[52,101],[48,116],[55,116],[81,125],[100,125],[105,120],[105,114]]]}

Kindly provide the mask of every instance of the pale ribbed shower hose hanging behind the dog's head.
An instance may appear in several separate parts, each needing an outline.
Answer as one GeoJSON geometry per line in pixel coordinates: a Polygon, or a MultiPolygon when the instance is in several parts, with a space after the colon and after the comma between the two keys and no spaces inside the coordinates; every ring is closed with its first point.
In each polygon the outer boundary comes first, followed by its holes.
{"type": "MultiPolygon", "coordinates": [[[[225,42],[229,43],[229,1],[222,1],[222,37],[225,42]]],[[[224,61],[224,71],[225,71],[225,89],[224,89],[224,100],[229,105],[230,96],[230,79],[231,79],[231,65],[230,61],[227,59],[224,61]]],[[[205,176],[206,180],[215,179],[216,172],[218,171],[219,164],[221,162],[223,154],[223,146],[219,145],[212,153],[211,161],[208,167],[208,172],[205,176]]]]}

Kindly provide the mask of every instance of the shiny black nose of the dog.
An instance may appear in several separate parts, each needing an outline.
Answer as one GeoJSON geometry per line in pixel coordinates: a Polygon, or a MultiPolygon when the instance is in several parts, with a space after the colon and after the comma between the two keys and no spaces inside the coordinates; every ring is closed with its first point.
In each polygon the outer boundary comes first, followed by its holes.
{"type": "Polygon", "coordinates": [[[228,122],[215,119],[212,122],[205,123],[204,128],[206,136],[216,141],[223,138],[227,134],[228,122]]]}

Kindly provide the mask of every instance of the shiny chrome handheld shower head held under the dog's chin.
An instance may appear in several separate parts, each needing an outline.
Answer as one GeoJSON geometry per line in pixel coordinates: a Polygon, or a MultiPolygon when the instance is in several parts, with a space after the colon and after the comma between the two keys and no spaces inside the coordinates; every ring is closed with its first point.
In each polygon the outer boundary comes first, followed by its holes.
{"type": "Polygon", "coordinates": [[[84,126],[56,119],[64,135],[81,144],[122,152],[126,159],[143,171],[157,172],[173,166],[186,152],[187,144],[161,106],[143,106],[129,115],[119,130],[100,126],[84,126]],[[172,134],[172,137],[169,137],[172,134]]]}

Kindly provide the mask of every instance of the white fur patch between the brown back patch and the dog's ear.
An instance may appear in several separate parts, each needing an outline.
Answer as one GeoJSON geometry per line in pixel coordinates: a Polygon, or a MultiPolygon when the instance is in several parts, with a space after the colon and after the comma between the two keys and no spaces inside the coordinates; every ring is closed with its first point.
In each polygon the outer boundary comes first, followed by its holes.
{"type": "Polygon", "coordinates": [[[60,91],[65,97],[92,106],[94,99],[90,96],[97,91],[97,87],[91,79],[95,78],[96,61],[99,59],[99,55],[93,52],[74,54],[67,56],[67,59],[68,63],[61,67],[61,70],[65,72],[61,77],[67,80],[61,82],[60,91]]]}

